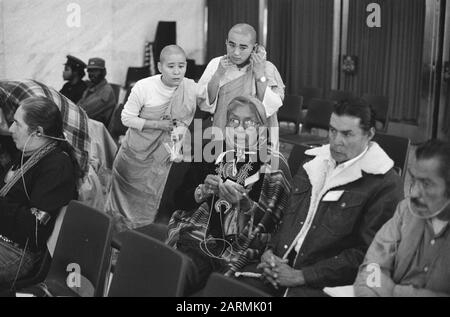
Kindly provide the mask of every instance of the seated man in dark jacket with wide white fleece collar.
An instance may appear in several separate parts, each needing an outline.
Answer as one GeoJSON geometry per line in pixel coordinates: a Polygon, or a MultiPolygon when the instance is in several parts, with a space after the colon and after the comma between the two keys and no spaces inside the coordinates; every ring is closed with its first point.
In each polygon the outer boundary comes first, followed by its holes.
{"type": "MultiPolygon", "coordinates": [[[[280,230],[258,268],[266,291],[321,296],[351,284],[375,233],[403,197],[394,163],[372,142],[370,107],[341,102],[330,119],[330,144],[306,151],[280,230]]],[[[262,286],[262,285],[260,285],[262,286]]]]}

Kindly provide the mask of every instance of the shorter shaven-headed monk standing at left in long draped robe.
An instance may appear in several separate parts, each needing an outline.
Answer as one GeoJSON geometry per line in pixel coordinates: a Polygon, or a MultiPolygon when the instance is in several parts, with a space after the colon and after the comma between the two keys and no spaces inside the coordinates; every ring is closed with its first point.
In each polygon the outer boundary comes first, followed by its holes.
{"type": "Polygon", "coordinates": [[[138,81],[124,106],[122,122],[128,131],[114,161],[106,203],[119,231],[154,221],[173,162],[167,148],[172,131],[185,132],[198,100],[206,95],[184,78],[186,64],[181,47],[164,47],[158,63],[161,74],[138,81]]]}

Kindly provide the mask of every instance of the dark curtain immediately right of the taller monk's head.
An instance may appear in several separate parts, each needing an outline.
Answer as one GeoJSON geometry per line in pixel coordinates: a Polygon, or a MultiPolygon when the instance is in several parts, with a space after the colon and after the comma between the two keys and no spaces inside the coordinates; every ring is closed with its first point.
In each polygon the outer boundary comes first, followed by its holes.
{"type": "Polygon", "coordinates": [[[286,92],[331,89],[332,0],[268,0],[268,59],[278,67],[286,92]]]}

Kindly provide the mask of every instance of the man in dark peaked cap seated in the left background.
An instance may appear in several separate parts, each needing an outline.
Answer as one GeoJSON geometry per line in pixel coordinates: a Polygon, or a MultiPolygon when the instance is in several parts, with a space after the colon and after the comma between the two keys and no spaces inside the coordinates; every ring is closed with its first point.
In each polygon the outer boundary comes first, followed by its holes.
{"type": "Polygon", "coordinates": [[[67,62],[64,66],[63,79],[67,81],[59,91],[69,98],[73,103],[77,103],[83,96],[87,88],[83,81],[86,64],[72,55],[67,55],[67,62]]]}

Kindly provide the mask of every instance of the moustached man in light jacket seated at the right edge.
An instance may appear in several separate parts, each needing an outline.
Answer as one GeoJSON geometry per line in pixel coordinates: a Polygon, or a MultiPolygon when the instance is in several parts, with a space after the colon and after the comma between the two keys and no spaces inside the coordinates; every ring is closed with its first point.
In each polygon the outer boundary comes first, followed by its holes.
{"type": "Polygon", "coordinates": [[[375,236],[356,296],[450,296],[450,144],[416,150],[410,196],[375,236]]]}

